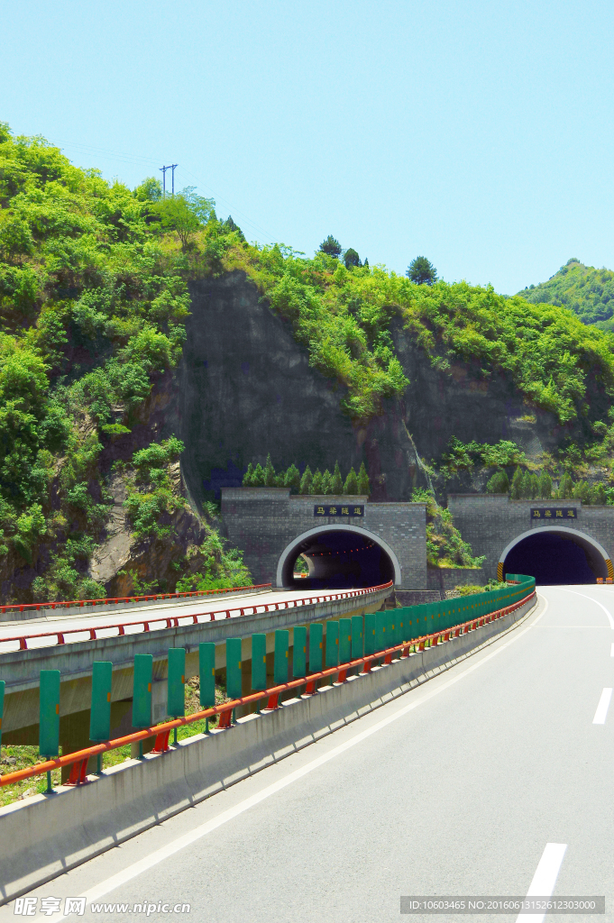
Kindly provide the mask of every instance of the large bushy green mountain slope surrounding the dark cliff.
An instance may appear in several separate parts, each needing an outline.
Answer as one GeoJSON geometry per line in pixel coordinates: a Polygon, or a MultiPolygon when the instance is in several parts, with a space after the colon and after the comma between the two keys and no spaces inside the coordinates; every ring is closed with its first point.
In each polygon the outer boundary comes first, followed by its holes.
{"type": "MultiPolygon", "coordinates": [[[[134,190],[107,183],[44,139],[14,138],[0,126],[3,598],[247,579],[240,554],[224,550],[215,510],[203,507],[197,518],[187,506],[178,466],[182,434],[169,409],[194,310],[190,287],[224,280],[232,287],[238,276],[258,289],[257,300],[259,293],[308,365],[330,382],[367,463],[364,434],[390,417],[391,407],[401,408],[392,428],[411,426],[403,416],[403,402],[417,387],[411,353],[422,357],[433,382],[435,396],[421,400],[425,431],[429,417],[431,429],[440,426],[441,389],[458,391],[462,379],[467,393],[486,394],[504,382],[524,407],[521,420],[545,414],[550,421],[549,454],[534,459],[534,468],[608,485],[614,335],[534,301],[537,289],[505,298],[465,282],[416,284],[384,267],[361,266],[357,255],[347,263],[323,251],[306,258],[283,245],[250,245],[232,219],[219,220],[211,200],[192,189],[162,200],[155,179],[134,190]],[[127,537],[121,529],[115,535],[123,515],[127,537]],[[122,568],[104,570],[102,546],[111,547],[115,561],[121,557],[122,568]]],[[[574,263],[561,273],[584,270],[574,263]]],[[[201,307],[206,329],[206,299],[201,307]]],[[[244,318],[247,324],[249,314],[244,318]]],[[[222,435],[211,434],[211,446],[222,435]]],[[[493,454],[472,448],[464,431],[454,437],[453,450],[432,459],[434,482],[463,469],[464,443],[467,458],[473,452],[486,459],[490,473],[527,462],[512,443],[493,454]]],[[[264,463],[269,451],[262,445],[245,468],[264,463]]],[[[403,455],[394,458],[409,464],[403,455]]],[[[335,461],[322,460],[330,470],[335,461]]],[[[369,471],[373,483],[384,475],[369,471]]]]}

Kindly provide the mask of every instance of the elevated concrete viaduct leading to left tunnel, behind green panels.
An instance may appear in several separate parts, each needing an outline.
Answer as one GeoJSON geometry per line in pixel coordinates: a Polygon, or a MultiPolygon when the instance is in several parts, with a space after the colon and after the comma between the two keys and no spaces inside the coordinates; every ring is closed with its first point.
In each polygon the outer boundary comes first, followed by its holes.
{"type": "MultiPolygon", "coordinates": [[[[137,608],[132,607],[129,614],[60,616],[42,624],[29,620],[20,625],[10,622],[2,626],[0,679],[6,682],[3,743],[35,744],[38,741],[39,674],[42,669],[60,671],[60,740],[64,752],[72,752],[89,744],[94,661],[113,664],[112,737],[115,737],[132,729],[135,654],[148,653],[153,658],[152,717],[154,721],[162,721],[166,714],[170,648],[186,649],[186,677],[189,678],[199,673],[199,643],[212,641],[217,645],[216,672],[223,671],[227,638],[245,638],[242,659],[249,661],[249,639],[254,632],[267,635],[267,651],[272,653],[275,629],[290,629],[292,639],[295,625],[374,611],[391,593],[390,587],[368,593],[308,593],[306,588],[303,590],[302,593],[246,593],[232,599],[199,599],[165,607],[144,605],[140,615],[137,608]],[[119,632],[118,626],[123,632],[119,632]],[[44,638],[29,639],[28,636],[40,632],[48,634],[44,638]],[[16,636],[26,639],[28,650],[19,649],[19,641],[5,640],[16,636]]],[[[220,678],[223,679],[223,674],[220,678]]]]}

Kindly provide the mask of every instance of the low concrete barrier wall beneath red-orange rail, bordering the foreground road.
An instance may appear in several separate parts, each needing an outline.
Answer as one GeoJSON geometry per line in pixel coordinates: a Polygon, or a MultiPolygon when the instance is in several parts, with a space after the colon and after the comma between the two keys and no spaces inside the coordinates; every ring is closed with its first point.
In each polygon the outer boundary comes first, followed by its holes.
{"type": "Polygon", "coordinates": [[[90,783],[0,809],[0,903],[25,893],[247,775],[331,734],[510,629],[536,605],[228,730],[126,761],[90,783]]]}

